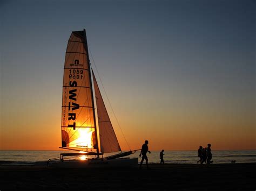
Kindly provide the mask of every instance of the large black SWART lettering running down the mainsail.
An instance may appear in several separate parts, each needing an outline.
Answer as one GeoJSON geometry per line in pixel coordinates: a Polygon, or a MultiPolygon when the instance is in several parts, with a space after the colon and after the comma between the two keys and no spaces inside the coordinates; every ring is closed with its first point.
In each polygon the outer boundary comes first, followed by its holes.
{"type": "MultiPolygon", "coordinates": [[[[69,87],[77,87],[76,81],[70,81],[69,87]]],[[[76,121],[76,111],[79,109],[80,105],[75,103],[77,101],[77,89],[71,89],[69,90],[69,118],[68,120],[76,121]],[[73,102],[75,101],[75,102],[73,102]],[[71,112],[70,112],[71,111],[71,112]]],[[[73,130],[76,129],[76,122],[73,122],[73,124],[68,125],[69,128],[73,128],[73,130]]]]}

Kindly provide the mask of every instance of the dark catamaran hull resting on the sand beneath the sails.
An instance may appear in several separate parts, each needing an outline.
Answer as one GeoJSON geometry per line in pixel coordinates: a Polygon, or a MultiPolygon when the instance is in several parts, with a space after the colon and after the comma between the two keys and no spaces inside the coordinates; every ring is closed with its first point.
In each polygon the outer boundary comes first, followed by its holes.
{"type": "Polygon", "coordinates": [[[59,160],[50,161],[48,166],[53,168],[138,167],[138,158],[120,158],[111,160],[59,160]]]}

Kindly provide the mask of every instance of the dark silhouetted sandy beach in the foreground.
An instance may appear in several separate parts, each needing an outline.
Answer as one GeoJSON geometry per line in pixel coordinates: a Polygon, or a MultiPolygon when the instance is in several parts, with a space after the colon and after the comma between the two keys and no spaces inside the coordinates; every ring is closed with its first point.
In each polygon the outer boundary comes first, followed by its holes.
{"type": "Polygon", "coordinates": [[[0,166],[0,190],[255,190],[256,163],[151,164],[151,169],[0,166]]]}

